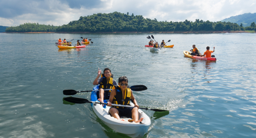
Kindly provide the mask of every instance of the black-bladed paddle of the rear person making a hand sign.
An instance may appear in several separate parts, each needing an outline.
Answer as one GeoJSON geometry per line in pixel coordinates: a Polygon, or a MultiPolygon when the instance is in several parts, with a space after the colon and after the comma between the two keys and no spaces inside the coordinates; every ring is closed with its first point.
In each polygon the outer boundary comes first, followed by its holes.
{"type": "MultiPolygon", "coordinates": [[[[133,85],[130,87],[130,89],[132,91],[142,91],[142,90],[147,90],[148,88],[145,85],[133,85]]],[[[112,89],[106,89],[106,90],[112,90],[112,89]]],[[[64,95],[75,95],[76,93],[91,92],[91,91],[98,91],[98,90],[86,90],[86,91],[63,90],[63,94],[64,95]]]]}

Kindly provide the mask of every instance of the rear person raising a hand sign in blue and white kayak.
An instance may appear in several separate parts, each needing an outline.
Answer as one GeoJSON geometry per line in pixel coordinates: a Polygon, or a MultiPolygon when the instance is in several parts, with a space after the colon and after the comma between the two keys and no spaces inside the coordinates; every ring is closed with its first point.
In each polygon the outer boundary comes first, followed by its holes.
{"type": "MultiPolygon", "coordinates": [[[[117,85],[116,80],[113,79],[113,75],[111,74],[111,70],[109,68],[105,68],[103,73],[101,74],[101,70],[98,69],[98,76],[93,81],[93,85],[100,84],[100,90],[99,90],[99,99],[102,101],[108,100],[110,96],[110,90],[104,91],[104,89],[113,89],[114,85],[117,85]],[[101,76],[101,78],[99,78],[101,76]]],[[[100,101],[100,100],[99,100],[100,101]]],[[[104,106],[102,104],[102,106],[104,106]]]]}

